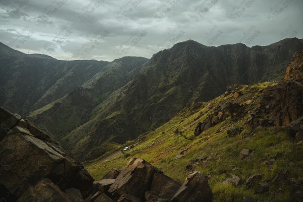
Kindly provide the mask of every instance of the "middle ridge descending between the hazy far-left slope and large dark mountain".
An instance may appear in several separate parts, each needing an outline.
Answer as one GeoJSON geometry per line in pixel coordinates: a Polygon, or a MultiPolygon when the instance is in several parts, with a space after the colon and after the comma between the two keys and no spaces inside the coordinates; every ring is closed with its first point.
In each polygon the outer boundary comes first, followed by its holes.
{"type": "MultiPolygon", "coordinates": [[[[141,57],[116,59],[86,81],[83,87],[78,86],[27,117],[49,135],[62,140],[70,131],[81,128],[82,124],[90,120],[94,107],[134,79],[147,61],[141,57]]],[[[99,151],[102,154],[102,150],[99,151]]]]}

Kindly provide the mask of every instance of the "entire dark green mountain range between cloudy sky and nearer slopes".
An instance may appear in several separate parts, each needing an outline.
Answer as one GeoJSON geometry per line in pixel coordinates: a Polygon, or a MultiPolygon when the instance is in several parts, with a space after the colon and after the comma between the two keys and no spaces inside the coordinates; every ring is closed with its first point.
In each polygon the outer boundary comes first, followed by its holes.
{"type": "Polygon", "coordinates": [[[150,59],[59,61],[4,44],[0,105],[24,115],[82,161],[155,130],[191,102],[234,83],[278,81],[303,40],[218,47],[188,40],[150,59]]]}

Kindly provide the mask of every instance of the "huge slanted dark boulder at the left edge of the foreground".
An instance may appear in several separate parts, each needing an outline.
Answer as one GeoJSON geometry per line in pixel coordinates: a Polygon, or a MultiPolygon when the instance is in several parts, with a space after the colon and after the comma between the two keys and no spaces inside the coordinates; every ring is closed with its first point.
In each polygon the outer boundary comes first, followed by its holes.
{"type": "Polygon", "coordinates": [[[87,197],[93,179],[79,161],[28,120],[4,108],[0,115],[0,159],[6,165],[0,167],[0,184],[10,191],[7,195],[19,198],[28,187],[37,191],[46,184],[63,193],[75,188],[87,197]]]}

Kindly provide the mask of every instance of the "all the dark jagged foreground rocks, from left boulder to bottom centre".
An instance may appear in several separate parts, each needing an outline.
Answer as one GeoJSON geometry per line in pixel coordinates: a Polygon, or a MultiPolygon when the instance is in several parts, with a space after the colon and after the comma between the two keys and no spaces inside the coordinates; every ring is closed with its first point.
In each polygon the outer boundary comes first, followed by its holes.
{"type": "Polygon", "coordinates": [[[84,166],[30,121],[0,108],[1,201],[212,201],[205,175],[183,184],[143,159],[93,181],[84,166]]]}

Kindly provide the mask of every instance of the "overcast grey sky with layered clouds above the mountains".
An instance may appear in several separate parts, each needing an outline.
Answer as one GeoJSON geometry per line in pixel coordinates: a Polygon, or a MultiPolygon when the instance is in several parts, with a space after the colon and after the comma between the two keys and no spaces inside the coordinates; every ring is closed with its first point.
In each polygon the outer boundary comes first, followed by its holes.
{"type": "Polygon", "coordinates": [[[303,38],[302,0],[1,0],[0,41],[59,60],[150,58],[188,39],[268,45],[303,38]]]}

